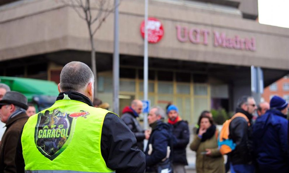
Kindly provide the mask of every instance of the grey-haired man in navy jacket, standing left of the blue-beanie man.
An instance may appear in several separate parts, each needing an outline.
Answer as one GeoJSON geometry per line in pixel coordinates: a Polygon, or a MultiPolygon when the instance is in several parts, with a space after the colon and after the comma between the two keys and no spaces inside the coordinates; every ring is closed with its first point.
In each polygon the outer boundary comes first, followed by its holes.
{"type": "Polygon", "coordinates": [[[153,107],[147,117],[152,128],[151,135],[145,151],[146,172],[173,173],[170,159],[172,148],[171,126],[161,120],[165,111],[161,107],[153,107]]]}

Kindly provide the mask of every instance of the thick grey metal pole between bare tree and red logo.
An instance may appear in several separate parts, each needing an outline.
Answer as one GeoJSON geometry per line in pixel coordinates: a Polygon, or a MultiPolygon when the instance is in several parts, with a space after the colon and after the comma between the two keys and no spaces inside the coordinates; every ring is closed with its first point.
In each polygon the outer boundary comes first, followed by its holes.
{"type": "Polygon", "coordinates": [[[114,0],[113,112],[119,114],[119,0],[114,0]]]}

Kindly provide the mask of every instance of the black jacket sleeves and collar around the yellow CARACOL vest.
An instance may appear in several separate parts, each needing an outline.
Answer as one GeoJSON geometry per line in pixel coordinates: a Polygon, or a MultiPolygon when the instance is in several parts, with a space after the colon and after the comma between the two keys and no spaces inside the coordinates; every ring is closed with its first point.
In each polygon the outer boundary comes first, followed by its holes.
{"type": "MultiPolygon", "coordinates": [[[[65,93],[72,100],[78,100],[93,106],[91,101],[80,93],[65,93]]],[[[60,93],[58,99],[61,99],[61,94],[63,98],[63,93],[60,93]]],[[[145,154],[137,149],[135,136],[115,114],[108,113],[105,116],[100,149],[107,167],[116,170],[116,173],[145,172],[145,154]]],[[[17,172],[24,173],[25,164],[22,155],[21,135],[18,140],[15,161],[17,172]]]]}

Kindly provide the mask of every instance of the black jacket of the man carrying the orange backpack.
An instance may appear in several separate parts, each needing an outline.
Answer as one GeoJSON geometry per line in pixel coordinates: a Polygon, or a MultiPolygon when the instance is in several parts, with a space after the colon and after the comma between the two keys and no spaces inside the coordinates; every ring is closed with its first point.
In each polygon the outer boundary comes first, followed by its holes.
{"type": "MultiPolygon", "coordinates": [[[[236,113],[245,114],[250,124],[252,124],[252,114],[237,108],[236,113]]],[[[243,117],[234,118],[229,126],[229,138],[236,143],[236,148],[228,154],[233,165],[252,164],[253,161],[253,141],[252,126],[248,126],[248,122],[243,117]]]]}

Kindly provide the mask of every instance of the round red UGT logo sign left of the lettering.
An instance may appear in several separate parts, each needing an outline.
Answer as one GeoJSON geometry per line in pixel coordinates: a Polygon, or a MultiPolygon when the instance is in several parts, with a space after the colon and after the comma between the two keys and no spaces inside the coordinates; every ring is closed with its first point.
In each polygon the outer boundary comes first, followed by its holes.
{"type": "MultiPolygon", "coordinates": [[[[147,41],[149,43],[157,43],[163,37],[163,25],[161,21],[156,18],[148,18],[147,20],[147,41]]],[[[140,25],[140,33],[142,38],[145,38],[145,20],[142,21],[140,25]]]]}

